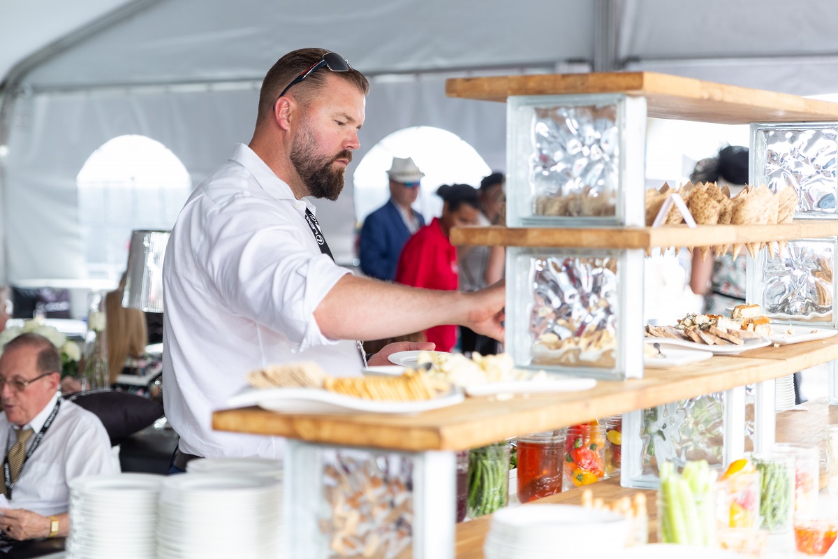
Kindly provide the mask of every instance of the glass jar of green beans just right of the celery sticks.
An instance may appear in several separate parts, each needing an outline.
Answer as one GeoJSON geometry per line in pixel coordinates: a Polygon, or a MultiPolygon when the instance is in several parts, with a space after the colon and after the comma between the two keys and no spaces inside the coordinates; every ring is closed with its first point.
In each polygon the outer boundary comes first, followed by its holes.
{"type": "Polygon", "coordinates": [[[788,532],[794,522],[794,458],[774,452],[753,453],[759,472],[759,515],[772,534],[788,532]]]}

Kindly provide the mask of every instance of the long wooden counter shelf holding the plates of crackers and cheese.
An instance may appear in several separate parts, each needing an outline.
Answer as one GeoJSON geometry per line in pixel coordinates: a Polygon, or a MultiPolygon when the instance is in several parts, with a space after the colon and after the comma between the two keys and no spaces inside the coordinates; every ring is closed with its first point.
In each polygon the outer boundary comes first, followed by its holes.
{"type": "Polygon", "coordinates": [[[657,406],[789,375],[838,359],[838,336],[804,344],[753,349],[740,356],[716,355],[675,369],[646,370],[643,379],[601,380],[590,391],[515,396],[510,400],[467,398],[458,406],[417,416],[284,415],[257,407],[216,411],[213,427],[302,439],[339,446],[403,451],[461,450],[521,433],[546,431],[593,417],[657,406]]]}

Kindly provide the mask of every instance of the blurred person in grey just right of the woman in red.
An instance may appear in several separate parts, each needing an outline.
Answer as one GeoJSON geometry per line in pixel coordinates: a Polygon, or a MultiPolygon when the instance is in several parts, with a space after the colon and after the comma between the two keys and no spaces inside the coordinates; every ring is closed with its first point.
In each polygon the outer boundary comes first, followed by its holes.
{"type": "MultiPolygon", "coordinates": [[[[498,225],[503,194],[503,173],[492,173],[480,181],[477,225],[498,225]]],[[[459,246],[457,251],[460,291],[477,291],[503,277],[503,246],[459,246]]],[[[465,355],[474,351],[480,355],[494,355],[498,352],[496,340],[475,334],[464,326],[460,327],[460,342],[465,355]]]]}

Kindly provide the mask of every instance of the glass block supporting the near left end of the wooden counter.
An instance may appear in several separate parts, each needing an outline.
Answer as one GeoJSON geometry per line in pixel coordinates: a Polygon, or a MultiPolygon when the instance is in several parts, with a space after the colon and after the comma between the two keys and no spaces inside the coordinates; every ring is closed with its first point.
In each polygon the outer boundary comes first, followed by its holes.
{"type": "Polygon", "coordinates": [[[395,559],[410,553],[411,455],[289,441],[286,460],[292,462],[284,516],[289,556],[395,559]]]}

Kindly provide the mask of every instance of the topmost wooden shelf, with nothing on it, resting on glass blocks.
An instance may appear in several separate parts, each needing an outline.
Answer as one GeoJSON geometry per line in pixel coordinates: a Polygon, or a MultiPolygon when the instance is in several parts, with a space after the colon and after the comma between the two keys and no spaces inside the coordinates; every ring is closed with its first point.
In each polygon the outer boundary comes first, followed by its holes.
{"type": "Polygon", "coordinates": [[[656,118],[722,124],[838,121],[838,104],[829,101],[654,72],[453,78],[446,81],[445,92],[502,102],[509,96],[624,93],[645,97],[649,116],[656,118]]]}

